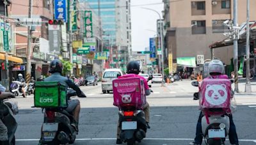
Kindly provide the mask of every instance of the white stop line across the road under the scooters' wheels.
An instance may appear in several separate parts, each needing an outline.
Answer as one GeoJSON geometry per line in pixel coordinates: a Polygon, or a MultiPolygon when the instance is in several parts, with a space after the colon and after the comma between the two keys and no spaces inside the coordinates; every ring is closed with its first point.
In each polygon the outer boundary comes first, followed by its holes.
{"type": "MultiPolygon", "coordinates": [[[[99,141],[99,140],[116,140],[116,138],[76,139],[76,141],[99,141]]],[[[194,141],[194,139],[165,139],[165,138],[145,138],[145,140],[155,140],[155,141],[194,141]]],[[[39,141],[39,139],[16,139],[15,141],[39,141]]],[[[228,139],[226,141],[228,141],[228,139]]],[[[239,139],[239,141],[241,141],[241,142],[256,142],[256,139],[239,139]]]]}

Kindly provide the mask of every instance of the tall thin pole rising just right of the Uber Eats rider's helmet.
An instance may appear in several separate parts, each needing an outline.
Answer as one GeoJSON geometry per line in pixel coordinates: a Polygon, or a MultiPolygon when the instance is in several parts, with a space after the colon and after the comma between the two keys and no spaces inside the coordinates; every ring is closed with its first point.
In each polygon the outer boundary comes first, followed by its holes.
{"type": "Polygon", "coordinates": [[[70,75],[73,75],[73,48],[72,48],[72,6],[73,0],[69,1],[69,56],[70,63],[72,64],[72,69],[70,75]]]}

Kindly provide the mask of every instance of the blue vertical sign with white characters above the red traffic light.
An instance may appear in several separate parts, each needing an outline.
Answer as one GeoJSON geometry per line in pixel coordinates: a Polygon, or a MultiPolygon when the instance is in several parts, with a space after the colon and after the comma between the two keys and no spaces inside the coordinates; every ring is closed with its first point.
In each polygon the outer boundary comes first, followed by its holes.
{"type": "Polygon", "coordinates": [[[67,22],[66,0],[54,0],[54,19],[67,22]]]}

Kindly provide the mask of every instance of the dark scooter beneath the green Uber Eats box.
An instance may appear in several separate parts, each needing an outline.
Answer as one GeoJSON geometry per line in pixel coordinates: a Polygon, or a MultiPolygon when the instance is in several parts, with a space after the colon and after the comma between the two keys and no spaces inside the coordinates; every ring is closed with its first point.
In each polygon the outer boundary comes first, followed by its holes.
{"type": "MultiPolygon", "coordinates": [[[[68,90],[67,97],[76,96],[74,90],[68,90]]],[[[78,129],[71,125],[72,113],[63,108],[43,108],[44,123],[41,128],[39,144],[73,144],[78,129]]]]}

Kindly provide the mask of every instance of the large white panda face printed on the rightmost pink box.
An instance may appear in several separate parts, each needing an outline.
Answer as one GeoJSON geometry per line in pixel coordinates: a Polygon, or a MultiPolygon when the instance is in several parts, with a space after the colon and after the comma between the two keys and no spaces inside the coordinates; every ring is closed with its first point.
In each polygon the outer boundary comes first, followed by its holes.
{"type": "Polygon", "coordinates": [[[226,85],[206,85],[205,99],[209,104],[221,105],[227,100],[226,85]]]}

